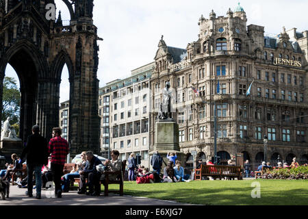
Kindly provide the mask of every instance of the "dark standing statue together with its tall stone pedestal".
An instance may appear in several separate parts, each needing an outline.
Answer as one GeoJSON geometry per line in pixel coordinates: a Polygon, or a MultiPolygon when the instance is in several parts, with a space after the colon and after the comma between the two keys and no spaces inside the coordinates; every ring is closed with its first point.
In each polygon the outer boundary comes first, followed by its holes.
{"type": "MultiPolygon", "coordinates": [[[[164,162],[168,163],[166,158],[169,153],[177,153],[177,159],[184,164],[184,154],[179,148],[179,125],[172,118],[171,112],[171,95],[170,83],[166,83],[166,87],[163,90],[163,101],[159,106],[159,112],[157,115],[157,122],[155,123],[155,137],[154,137],[154,150],[150,153],[153,155],[155,151],[158,151],[162,155],[164,162]]],[[[162,166],[162,171],[166,165],[162,166]]],[[[151,166],[152,168],[152,166],[151,166]]]]}

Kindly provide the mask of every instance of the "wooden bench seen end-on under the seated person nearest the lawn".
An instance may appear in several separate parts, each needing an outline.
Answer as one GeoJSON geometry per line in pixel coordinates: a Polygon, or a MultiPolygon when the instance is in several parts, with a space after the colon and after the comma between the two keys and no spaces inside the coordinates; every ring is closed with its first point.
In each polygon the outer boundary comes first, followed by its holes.
{"type": "Polygon", "coordinates": [[[100,181],[105,187],[104,196],[108,196],[108,185],[110,184],[119,184],[120,185],[120,189],[119,189],[120,196],[123,196],[123,177],[124,177],[124,172],[125,172],[125,166],[126,166],[126,160],[123,160],[121,170],[116,171],[116,172],[112,172],[112,171],[104,172],[105,181],[100,181]],[[118,177],[116,180],[110,180],[109,175],[117,175],[118,177]]]}

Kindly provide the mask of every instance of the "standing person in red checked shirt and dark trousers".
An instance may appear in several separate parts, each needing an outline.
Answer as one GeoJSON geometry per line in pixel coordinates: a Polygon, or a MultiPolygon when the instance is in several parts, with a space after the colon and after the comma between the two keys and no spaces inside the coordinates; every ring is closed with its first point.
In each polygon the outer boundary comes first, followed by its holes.
{"type": "Polygon", "coordinates": [[[62,197],[61,177],[65,164],[66,155],[68,155],[68,142],[61,137],[60,128],[53,128],[53,138],[49,141],[49,154],[51,154],[51,172],[53,182],[55,183],[55,195],[62,197]]]}

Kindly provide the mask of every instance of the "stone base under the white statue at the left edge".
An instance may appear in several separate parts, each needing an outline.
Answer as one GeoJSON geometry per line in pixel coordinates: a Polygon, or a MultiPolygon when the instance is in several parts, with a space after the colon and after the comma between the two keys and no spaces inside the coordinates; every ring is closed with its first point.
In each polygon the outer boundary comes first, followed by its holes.
{"type": "Polygon", "coordinates": [[[5,157],[6,162],[12,162],[11,155],[16,153],[17,156],[21,156],[23,152],[23,142],[21,141],[1,141],[0,142],[0,155],[5,157]]]}

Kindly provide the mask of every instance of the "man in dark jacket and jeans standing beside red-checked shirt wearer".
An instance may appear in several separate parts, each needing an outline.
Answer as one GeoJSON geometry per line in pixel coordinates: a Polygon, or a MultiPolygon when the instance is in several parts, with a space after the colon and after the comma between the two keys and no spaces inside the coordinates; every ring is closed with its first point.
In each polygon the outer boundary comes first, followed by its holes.
{"type": "Polygon", "coordinates": [[[34,125],[32,127],[32,135],[28,136],[27,144],[21,153],[21,159],[27,155],[27,195],[32,197],[33,190],[33,172],[36,175],[36,198],[41,198],[42,188],[42,166],[48,162],[47,140],[40,136],[40,127],[34,125]]]}

